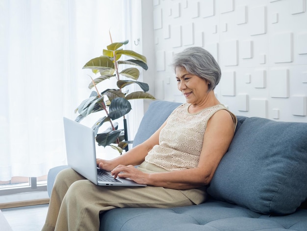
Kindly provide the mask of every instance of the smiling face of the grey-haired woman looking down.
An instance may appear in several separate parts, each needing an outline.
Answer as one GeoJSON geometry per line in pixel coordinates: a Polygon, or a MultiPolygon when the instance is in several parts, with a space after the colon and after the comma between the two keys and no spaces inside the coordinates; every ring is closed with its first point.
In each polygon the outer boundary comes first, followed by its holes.
{"type": "Polygon", "coordinates": [[[184,67],[176,67],[176,79],[187,103],[199,105],[204,102],[208,95],[208,81],[188,73],[184,67]]]}

